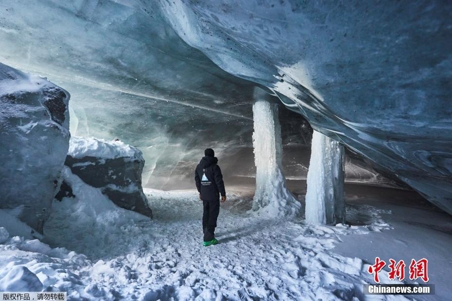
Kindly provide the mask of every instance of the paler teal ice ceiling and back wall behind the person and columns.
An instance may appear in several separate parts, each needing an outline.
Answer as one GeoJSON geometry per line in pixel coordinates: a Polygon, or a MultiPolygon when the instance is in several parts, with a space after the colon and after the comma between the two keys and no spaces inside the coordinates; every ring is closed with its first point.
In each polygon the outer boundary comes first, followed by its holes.
{"type": "MultiPolygon", "coordinates": [[[[226,183],[242,184],[256,173],[254,84],[188,46],[150,3],[3,1],[0,60],[70,91],[71,134],[139,147],[143,186],[192,188],[207,147],[226,183]]],[[[292,154],[283,157],[284,174],[304,179],[311,128],[282,107],[279,117],[284,153],[292,154]]]]}

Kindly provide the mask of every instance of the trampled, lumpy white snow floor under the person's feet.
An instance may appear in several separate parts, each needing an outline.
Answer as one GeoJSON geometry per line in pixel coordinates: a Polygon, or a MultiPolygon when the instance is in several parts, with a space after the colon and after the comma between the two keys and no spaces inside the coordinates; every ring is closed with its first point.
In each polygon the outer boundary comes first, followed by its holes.
{"type": "Polygon", "coordinates": [[[93,190],[97,201],[55,201],[42,241],[0,231],[0,290],[68,291],[71,300],[406,300],[364,296],[368,265],[332,250],[347,237],[390,235],[381,218],[389,211],[353,204],[348,221],[360,225],[310,226],[250,215],[252,191],[229,189],[220,244],[203,247],[196,191],[145,193],[152,221],[93,190]]]}

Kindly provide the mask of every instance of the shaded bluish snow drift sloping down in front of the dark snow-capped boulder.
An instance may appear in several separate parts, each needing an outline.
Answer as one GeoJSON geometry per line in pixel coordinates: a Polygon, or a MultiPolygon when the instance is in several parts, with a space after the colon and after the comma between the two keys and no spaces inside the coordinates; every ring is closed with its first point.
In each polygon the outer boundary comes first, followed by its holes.
{"type": "Polygon", "coordinates": [[[104,254],[117,245],[122,227],[149,218],[122,209],[64,167],[63,178],[72,187],[74,198],[53,201],[52,214],[44,226],[45,238],[71,250],[104,254]]]}

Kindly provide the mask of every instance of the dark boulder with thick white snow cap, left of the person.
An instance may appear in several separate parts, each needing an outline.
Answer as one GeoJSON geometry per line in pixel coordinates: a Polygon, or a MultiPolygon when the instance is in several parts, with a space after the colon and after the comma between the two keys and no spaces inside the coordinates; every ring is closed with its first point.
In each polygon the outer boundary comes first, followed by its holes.
{"type": "Polygon", "coordinates": [[[116,205],[152,217],[141,187],[144,159],[139,149],[121,141],[72,137],[65,165],[116,205]]]}

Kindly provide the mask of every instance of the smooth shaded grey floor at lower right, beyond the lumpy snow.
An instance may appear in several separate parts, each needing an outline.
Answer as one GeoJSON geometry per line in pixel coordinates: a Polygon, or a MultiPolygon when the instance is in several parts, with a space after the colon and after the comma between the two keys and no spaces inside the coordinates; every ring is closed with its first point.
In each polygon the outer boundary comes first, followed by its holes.
{"type": "MultiPolygon", "coordinates": [[[[391,212],[383,213],[382,218],[393,229],[369,233],[365,237],[344,236],[332,251],[343,256],[356,256],[365,262],[374,262],[376,256],[387,263],[389,258],[410,263],[412,258],[425,257],[429,261],[429,284],[435,284],[435,295],[417,296],[420,297],[417,299],[452,300],[452,217],[432,208],[420,197],[413,200],[410,192],[394,193],[394,189],[384,188],[374,188],[374,192],[369,190],[365,196],[350,195],[349,206],[378,206],[391,212]]],[[[388,270],[387,267],[384,269],[388,270]]]]}

